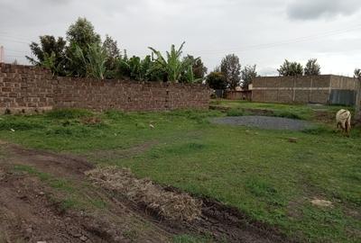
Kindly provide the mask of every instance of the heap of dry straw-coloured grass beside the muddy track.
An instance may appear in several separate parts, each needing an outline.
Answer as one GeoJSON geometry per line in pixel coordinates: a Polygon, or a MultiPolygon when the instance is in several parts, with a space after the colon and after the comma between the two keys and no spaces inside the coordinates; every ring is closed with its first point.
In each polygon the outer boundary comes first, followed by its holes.
{"type": "Polygon", "coordinates": [[[201,213],[199,200],[187,193],[165,191],[149,179],[137,179],[130,169],[110,166],[88,171],[86,175],[95,184],[116,190],[169,220],[195,220],[201,213]]]}

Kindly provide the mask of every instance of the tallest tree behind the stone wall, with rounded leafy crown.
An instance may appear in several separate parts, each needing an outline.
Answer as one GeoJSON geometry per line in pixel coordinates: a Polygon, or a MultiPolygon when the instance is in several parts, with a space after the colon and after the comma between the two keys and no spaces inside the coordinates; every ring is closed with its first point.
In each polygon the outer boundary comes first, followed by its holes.
{"type": "Polygon", "coordinates": [[[81,49],[84,56],[87,57],[88,51],[90,51],[89,46],[101,46],[100,35],[97,34],[93,24],[88,22],[86,18],[79,18],[69,26],[67,40],[69,41],[69,46],[66,50],[67,58],[69,58],[69,62],[67,63],[69,75],[87,76],[84,67],[82,67],[84,61],[79,58],[79,55],[76,55],[76,53],[81,49]]]}

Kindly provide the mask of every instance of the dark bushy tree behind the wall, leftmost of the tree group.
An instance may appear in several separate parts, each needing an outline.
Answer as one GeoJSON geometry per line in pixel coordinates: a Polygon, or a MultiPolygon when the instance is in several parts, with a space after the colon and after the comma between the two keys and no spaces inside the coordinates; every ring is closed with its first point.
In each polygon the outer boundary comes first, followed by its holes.
{"type": "Polygon", "coordinates": [[[61,37],[55,39],[51,35],[40,36],[40,43],[32,42],[30,49],[35,58],[25,56],[32,65],[47,67],[51,69],[54,75],[65,75],[64,65],[67,61],[65,58],[65,47],[67,41],[61,37]]]}

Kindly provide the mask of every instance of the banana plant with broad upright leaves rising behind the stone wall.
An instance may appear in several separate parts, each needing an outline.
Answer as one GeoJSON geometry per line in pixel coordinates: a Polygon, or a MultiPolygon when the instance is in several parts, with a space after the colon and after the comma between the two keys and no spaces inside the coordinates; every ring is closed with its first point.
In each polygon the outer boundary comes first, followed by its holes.
{"type": "MultiPolygon", "coordinates": [[[[180,77],[182,74],[189,72],[190,67],[192,67],[192,61],[189,58],[181,59],[181,53],[185,42],[180,45],[179,49],[175,49],[174,45],[171,45],[171,51],[167,51],[166,58],[162,56],[162,53],[159,50],[149,47],[153,51],[153,54],[157,57],[155,59],[156,65],[154,68],[162,69],[167,75],[167,81],[173,83],[179,83],[180,77]]],[[[194,79],[194,76],[191,76],[190,79],[194,79]]]]}

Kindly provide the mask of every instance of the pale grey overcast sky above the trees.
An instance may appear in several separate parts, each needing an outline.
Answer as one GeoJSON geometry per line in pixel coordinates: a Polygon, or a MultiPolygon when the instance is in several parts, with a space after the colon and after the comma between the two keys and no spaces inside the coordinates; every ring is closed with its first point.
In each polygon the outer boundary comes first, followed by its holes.
{"type": "Polygon", "coordinates": [[[65,36],[79,16],[128,55],[185,40],[184,54],[200,56],[208,70],[228,53],[264,76],[277,74],[284,58],[318,58],[323,74],[361,67],[360,0],[0,0],[5,60],[25,63],[31,40],[65,36]]]}

